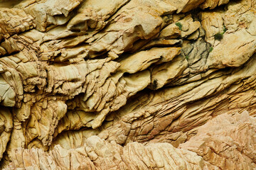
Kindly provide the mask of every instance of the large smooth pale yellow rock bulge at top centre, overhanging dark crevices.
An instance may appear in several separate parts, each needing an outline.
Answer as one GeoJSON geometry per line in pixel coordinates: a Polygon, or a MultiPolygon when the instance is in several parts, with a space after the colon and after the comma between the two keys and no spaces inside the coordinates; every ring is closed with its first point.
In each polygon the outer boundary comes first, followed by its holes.
{"type": "Polygon", "coordinates": [[[176,8],[164,1],[130,1],[120,9],[107,26],[105,34],[100,35],[89,48],[90,57],[97,57],[105,52],[116,55],[129,50],[138,40],[147,40],[159,32],[163,23],[161,15],[174,13],[176,8]],[[139,11],[139,13],[138,13],[139,11]],[[127,42],[123,42],[127,38],[127,42]]]}

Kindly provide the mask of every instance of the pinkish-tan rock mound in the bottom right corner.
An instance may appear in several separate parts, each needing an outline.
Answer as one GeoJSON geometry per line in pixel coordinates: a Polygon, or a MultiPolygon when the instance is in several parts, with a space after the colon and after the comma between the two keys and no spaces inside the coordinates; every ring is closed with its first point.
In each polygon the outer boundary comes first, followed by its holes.
{"type": "Polygon", "coordinates": [[[255,123],[246,111],[218,115],[179,147],[196,152],[219,169],[255,169],[255,123]]]}

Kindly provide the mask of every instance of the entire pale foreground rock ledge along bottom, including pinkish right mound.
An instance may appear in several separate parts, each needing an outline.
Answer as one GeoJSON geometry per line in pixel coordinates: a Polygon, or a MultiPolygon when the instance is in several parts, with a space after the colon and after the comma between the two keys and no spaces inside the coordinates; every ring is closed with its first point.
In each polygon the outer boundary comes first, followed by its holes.
{"type": "Polygon", "coordinates": [[[219,115],[199,127],[179,149],[168,143],[130,142],[122,147],[94,135],[80,147],[63,143],[48,153],[14,149],[15,161],[6,169],[252,169],[256,166],[255,123],[246,111],[219,115]]]}

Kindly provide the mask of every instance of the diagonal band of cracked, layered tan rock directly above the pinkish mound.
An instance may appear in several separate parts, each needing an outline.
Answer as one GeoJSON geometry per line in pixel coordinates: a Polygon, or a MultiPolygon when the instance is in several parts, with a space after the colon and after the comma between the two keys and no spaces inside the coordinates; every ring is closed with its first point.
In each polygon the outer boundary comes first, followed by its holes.
{"type": "Polygon", "coordinates": [[[114,117],[117,114],[119,120],[114,118],[114,124],[102,130],[100,137],[119,144],[149,140],[164,140],[176,144],[178,140],[186,141],[189,134],[196,131],[194,128],[216,114],[241,112],[245,109],[255,114],[255,91],[248,90],[256,76],[255,63],[255,60],[251,60],[250,64],[244,67],[247,75],[238,71],[239,69],[234,69],[231,76],[225,71],[216,72],[211,74],[211,79],[206,78],[137,96],[135,100],[113,113],[114,117]],[[235,83],[242,77],[247,77],[243,83],[235,83]],[[212,89],[208,89],[208,86],[212,89]],[[228,91],[225,92],[225,89],[228,91]],[[243,92],[245,89],[247,92],[243,92]],[[208,98],[201,101],[206,96],[208,98]],[[121,136],[123,140],[119,140],[121,136]]]}

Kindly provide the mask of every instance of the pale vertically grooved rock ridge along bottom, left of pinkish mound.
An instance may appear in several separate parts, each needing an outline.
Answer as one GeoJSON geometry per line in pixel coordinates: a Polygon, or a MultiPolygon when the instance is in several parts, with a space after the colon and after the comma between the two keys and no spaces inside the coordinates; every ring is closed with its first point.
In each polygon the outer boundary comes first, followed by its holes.
{"type": "Polygon", "coordinates": [[[46,153],[41,149],[15,149],[6,169],[203,169],[204,162],[193,152],[168,143],[120,146],[97,136],[82,147],[64,149],[60,145],[46,153]],[[61,158],[61,159],[60,159],[61,158]]]}

